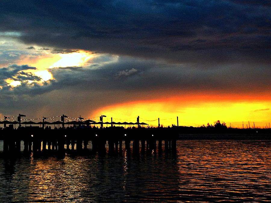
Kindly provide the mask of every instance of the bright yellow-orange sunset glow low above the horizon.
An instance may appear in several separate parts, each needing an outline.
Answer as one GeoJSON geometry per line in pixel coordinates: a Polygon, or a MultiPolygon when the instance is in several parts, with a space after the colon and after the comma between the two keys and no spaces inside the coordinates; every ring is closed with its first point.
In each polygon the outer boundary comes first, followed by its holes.
{"type": "MultiPolygon", "coordinates": [[[[268,98],[268,97],[267,97],[268,98]]],[[[246,95],[202,95],[194,94],[184,97],[162,98],[160,100],[140,100],[120,103],[98,109],[95,115],[107,115],[105,121],[110,118],[127,119],[127,122],[136,122],[139,115],[140,122],[146,122],[153,126],[177,125],[176,117],[179,117],[179,125],[201,126],[214,121],[225,121],[227,126],[236,128],[244,126],[250,121],[252,127],[268,126],[271,118],[271,100],[266,97],[248,97],[246,95]],[[143,120],[145,119],[145,120],[143,120]],[[155,121],[152,121],[155,120],[155,121]]],[[[126,120],[113,119],[115,122],[126,120]]]]}

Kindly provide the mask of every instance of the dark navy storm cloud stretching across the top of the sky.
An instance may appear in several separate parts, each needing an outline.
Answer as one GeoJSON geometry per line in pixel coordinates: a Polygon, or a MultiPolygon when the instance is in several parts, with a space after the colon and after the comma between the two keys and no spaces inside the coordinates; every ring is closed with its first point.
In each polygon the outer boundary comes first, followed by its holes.
{"type": "Polygon", "coordinates": [[[26,43],[173,62],[270,62],[269,1],[2,0],[0,7],[0,29],[26,43]]]}

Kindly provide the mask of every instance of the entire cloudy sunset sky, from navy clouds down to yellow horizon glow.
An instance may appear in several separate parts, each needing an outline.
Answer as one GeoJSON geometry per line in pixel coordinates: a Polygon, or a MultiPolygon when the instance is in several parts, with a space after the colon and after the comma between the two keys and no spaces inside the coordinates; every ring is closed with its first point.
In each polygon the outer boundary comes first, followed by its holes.
{"type": "Polygon", "coordinates": [[[0,118],[271,121],[271,3],[0,1],[0,118]]]}

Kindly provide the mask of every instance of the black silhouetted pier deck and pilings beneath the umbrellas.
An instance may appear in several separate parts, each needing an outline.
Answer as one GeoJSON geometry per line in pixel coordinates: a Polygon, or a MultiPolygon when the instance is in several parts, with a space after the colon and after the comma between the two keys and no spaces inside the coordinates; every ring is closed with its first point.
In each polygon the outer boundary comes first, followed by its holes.
{"type": "MultiPolygon", "coordinates": [[[[130,152],[131,143],[133,153],[139,152],[176,152],[178,133],[172,128],[136,128],[124,129],[91,128],[91,129],[54,129],[20,128],[17,130],[5,129],[0,132],[3,140],[3,152],[14,154],[21,152],[21,141],[24,143],[24,152],[89,152],[87,146],[92,145],[91,152],[108,153],[130,152]],[[123,146],[123,144],[125,146],[123,146]],[[162,147],[164,145],[164,147],[162,147]]],[[[1,150],[1,149],[0,149],[1,150]]]]}

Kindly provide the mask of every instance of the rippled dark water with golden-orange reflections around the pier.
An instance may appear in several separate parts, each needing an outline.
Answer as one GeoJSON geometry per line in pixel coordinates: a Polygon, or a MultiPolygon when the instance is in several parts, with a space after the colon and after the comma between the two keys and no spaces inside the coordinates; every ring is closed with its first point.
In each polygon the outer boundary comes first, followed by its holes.
{"type": "Polygon", "coordinates": [[[0,158],[0,201],[271,201],[270,151],[270,141],[192,140],[176,155],[0,158]]]}

